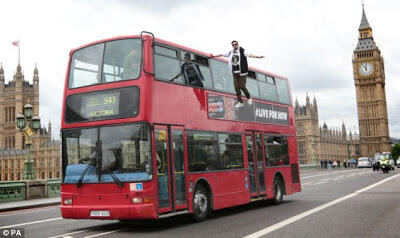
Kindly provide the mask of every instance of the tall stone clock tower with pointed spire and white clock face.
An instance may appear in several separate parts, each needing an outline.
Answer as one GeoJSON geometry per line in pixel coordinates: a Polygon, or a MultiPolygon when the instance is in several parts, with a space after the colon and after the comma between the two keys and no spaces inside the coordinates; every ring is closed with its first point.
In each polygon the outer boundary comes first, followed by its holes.
{"type": "Polygon", "coordinates": [[[358,44],[353,55],[356,86],[360,154],[373,156],[391,151],[385,92],[385,68],[364,11],[358,28],[358,44]]]}

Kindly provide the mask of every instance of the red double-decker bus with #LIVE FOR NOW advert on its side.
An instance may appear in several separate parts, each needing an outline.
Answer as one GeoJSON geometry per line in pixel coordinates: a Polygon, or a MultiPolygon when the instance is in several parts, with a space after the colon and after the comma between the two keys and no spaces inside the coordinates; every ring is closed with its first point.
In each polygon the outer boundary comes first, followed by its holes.
{"type": "Polygon", "coordinates": [[[236,108],[227,61],[154,38],[74,49],[62,109],[61,212],[156,219],[301,191],[288,80],[251,68],[236,108]]]}

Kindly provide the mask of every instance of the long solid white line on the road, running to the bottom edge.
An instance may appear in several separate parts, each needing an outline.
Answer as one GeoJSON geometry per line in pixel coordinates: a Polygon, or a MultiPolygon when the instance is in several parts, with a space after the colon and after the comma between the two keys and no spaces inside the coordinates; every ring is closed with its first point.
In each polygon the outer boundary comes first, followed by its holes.
{"type": "Polygon", "coordinates": [[[279,222],[279,223],[276,223],[276,224],[274,224],[274,225],[272,225],[272,226],[269,226],[269,227],[267,227],[267,228],[265,228],[265,229],[262,229],[262,230],[260,230],[260,231],[255,232],[255,233],[252,233],[252,234],[250,234],[250,235],[247,235],[247,236],[245,236],[245,237],[243,237],[243,238],[257,238],[257,237],[264,236],[264,235],[266,235],[266,234],[268,234],[268,233],[271,233],[271,232],[273,232],[273,231],[275,231],[275,230],[278,230],[278,229],[280,229],[280,228],[282,228],[282,227],[284,227],[284,226],[286,226],[286,225],[289,225],[289,224],[291,224],[291,223],[293,223],[293,222],[296,222],[296,221],[298,221],[298,220],[300,220],[300,219],[303,219],[303,218],[305,218],[305,217],[307,217],[307,216],[309,216],[309,215],[312,215],[312,214],[317,213],[317,212],[319,212],[319,211],[321,211],[321,210],[324,210],[324,209],[326,209],[326,208],[328,208],[328,207],[331,207],[331,206],[336,205],[336,204],[338,204],[338,203],[340,203],[340,202],[343,202],[344,200],[347,200],[347,199],[349,199],[349,198],[352,198],[352,197],[354,197],[354,196],[356,196],[356,195],[358,195],[358,194],[360,194],[360,193],[362,193],[362,192],[365,192],[365,191],[367,191],[367,190],[369,190],[369,189],[371,189],[371,188],[374,188],[374,187],[376,187],[376,186],[378,186],[378,185],[380,185],[380,184],[382,184],[382,183],[385,183],[385,182],[387,182],[387,181],[389,181],[389,180],[392,180],[392,179],[394,179],[394,178],[397,178],[397,177],[399,177],[399,176],[400,176],[400,174],[393,175],[393,176],[391,176],[391,177],[389,177],[389,178],[386,178],[386,179],[381,180],[381,181],[379,181],[379,182],[377,182],[377,183],[374,183],[374,184],[372,184],[372,185],[369,185],[368,187],[359,189],[359,190],[357,190],[357,191],[355,191],[355,192],[353,192],[353,193],[351,193],[351,194],[348,194],[348,195],[346,195],[346,196],[340,197],[340,198],[338,198],[338,199],[335,199],[335,200],[333,200],[333,201],[330,201],[330,202],[328,202],[328,203],[325,203],[325,204],[323,204],[323,205],[320,205],[320,206],[318,206],[318,207],[315,207],[315,208],[313,208],[313,209],[310,209],[310,210],[308,210],[308,211],[305,211],[305,212],[303,212],[303,213],[300,213],[300,214],[298,214],[298,215],[296,215],[296,216],[290,217],[290,218],[288,218],[288,219],[286,219],[286,220],[283,220],[283,221],[281,221],[281,222],[279,222]]]}

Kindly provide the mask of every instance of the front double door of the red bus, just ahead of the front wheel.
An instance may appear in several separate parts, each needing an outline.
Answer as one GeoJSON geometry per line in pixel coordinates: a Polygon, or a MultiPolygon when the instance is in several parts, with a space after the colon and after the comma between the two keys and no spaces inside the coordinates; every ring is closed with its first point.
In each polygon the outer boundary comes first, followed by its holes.
{"type": "Polygon", "coordinates": [[[154,128],[160,213],[187,208],[183,132],[180,126],[154,128]]]}

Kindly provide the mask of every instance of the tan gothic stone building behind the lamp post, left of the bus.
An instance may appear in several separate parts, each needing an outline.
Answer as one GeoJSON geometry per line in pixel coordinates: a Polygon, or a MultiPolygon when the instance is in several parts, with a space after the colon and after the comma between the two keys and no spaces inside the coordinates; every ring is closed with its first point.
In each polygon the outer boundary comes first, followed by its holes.
{"type": "MultiPolygon", "coordinates": [[[[16,127],[16,115],[26,104],[33,105],[33,115],[39,115],[39,72],[33,71],[32,84],[25,80],[21,65],[12,80],[6,83],[0,66],[0,181],[21,180],[27,156],[25,138],[16,127]]],[[[60,178],[60,142],[52,140],[51,123],[33,135],[31,159],[35,179],[60,178]]]]}

